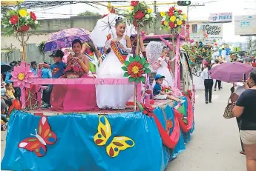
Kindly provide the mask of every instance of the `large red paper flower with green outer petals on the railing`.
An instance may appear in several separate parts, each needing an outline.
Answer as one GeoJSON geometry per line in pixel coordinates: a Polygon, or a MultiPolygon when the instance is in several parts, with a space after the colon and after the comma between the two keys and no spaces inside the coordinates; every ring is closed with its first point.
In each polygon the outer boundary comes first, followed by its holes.
{"type": "Polygon", "coordinates": [[[129,77],[129,81],[139,83],[140,81],[145,82],[144,73],[151,73],[148,69],[149,64],[146,62],[145,58],[140,58],[140,56],[135,56],[133,58],[130,56],[129,61],[125,61],[125,67],[122,70],[125,71],[124,77],[129,77]]]}

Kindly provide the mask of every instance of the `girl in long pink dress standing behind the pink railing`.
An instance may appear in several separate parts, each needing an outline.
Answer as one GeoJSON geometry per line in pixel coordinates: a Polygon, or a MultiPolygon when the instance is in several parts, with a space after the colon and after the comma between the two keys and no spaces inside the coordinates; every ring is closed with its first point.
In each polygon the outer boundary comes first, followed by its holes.
{"type": "MultiPolygon", "coordinates": [[[[79,67],[83,79],[91,78],[89,73],[89,60],[81,54],[82,42],[78,39],[72,42],[74,56],[69,56],[67,64],[79,67]]],[[[67,68],[69,68],[67,66],[67,68]]],[[[65,78],[62,76],[61,78],[65,78]]],[[[95,85],[57,85],[53,87],[50,104],[53,110],[86,111],[96,110],[95,85]]]]}

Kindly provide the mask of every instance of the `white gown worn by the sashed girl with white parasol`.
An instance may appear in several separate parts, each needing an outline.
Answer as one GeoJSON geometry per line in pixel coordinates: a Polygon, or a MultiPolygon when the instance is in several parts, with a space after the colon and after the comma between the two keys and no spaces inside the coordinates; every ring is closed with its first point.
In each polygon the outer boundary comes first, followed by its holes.
{"type": "MultiPolygon", "coordinates": [[[[123,36],[119,43],[126,46],[125,36],[123,36]]],[[[128,59],[128,58],[127,58],[128,59]]],[[[113,50],[108,53],[99,66],[97,78],[124,78],[124,71],[122,70],[122,63],[116,57],[113,50]]],[[[124,109],[127,101],[134,95],[134,85],[96,85],[96,101],[100,109],[124,109]]]]}

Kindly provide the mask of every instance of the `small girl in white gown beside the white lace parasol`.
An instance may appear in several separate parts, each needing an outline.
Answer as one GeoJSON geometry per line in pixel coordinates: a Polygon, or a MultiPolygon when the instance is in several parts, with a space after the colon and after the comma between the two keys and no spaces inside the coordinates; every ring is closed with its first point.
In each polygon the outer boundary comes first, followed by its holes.
{"type": "MultiPolygon", "coordinates": [[[[157,74],[160,74],[161,76],[165,76],[165,80],[163,81],[163,85],[166,87],[174,87],[174,76],[172,75],[171,71],[168,70],[168,61],[166,60],[167,56],[169,54],[168,47],[163,47],[162,50],[162,56],[158,58],[158,62],[160,64],[160,67],[157,70],[157,74]]],[[[174,58],[171,59],[171,61],[174,61],[174,58]]],[[[156,84],[156,81],[153,82],[152,87],[156,84]]]]}

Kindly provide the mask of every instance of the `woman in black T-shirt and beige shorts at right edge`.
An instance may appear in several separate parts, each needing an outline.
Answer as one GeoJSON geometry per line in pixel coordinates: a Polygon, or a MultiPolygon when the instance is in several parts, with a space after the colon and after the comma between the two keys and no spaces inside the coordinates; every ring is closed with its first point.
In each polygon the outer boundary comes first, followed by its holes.
{"type": "Polygon", "coordinates": [[[234,106],[235,117],[241,117],[240,137],[246,151],[247,171],[256,170],[256,70],[252,70],[247,80],[250,89],[245,90],[234,106]]]}

